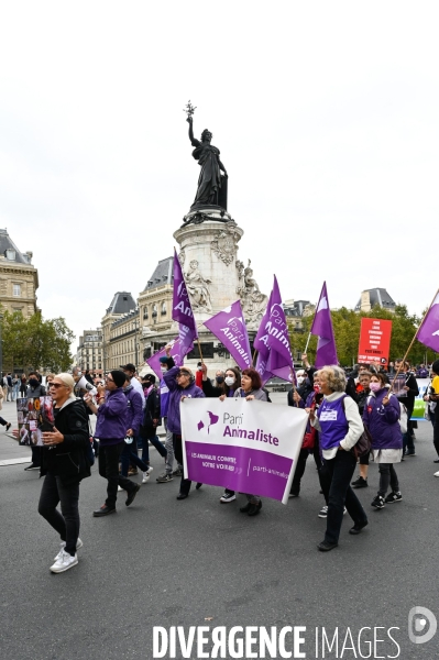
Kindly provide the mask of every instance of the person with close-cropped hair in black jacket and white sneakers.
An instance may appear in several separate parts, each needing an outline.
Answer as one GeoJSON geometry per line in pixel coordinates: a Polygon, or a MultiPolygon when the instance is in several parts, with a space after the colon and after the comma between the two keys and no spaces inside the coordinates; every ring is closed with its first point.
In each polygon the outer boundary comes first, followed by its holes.
{"type": "Polygon", "coordinates": [[[79,539],[79,483],[90,476],[87,458],[89,439],[88,415],[81,399],[74,394],[70,374],[58,374],[50,385],[54,404],[55,424],[43,431],[41,474],[45,475],[40,495],[39,513],[59,534],[61,550],[51,566],[53,573],[63,573],[78,563],[76,550],[79,539]],[[61,503],[61,513],[57,505],[61,503]]]}

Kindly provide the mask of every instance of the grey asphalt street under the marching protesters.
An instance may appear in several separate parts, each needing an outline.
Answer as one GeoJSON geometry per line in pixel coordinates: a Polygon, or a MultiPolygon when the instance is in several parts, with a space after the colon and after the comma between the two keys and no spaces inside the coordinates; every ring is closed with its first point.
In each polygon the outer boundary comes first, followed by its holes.
{"type": "MultiPolygon", "coordinates": [[[[13,408],[4,405],[6,419],[13,419],[13,408]]],[[[287,506],[264,499],[261,515],[249,518],[240,502],[220,505],[218,487],[193,490],[177,502],[178,480],[155,482],[163,462],[152,449],[151,482],[130,508],[121,493],[118,514],[108,518],[91,517],[105,499],[105,482],[92,469],[81,485],[79,564],[53,575],[58,539],[36,512],[39,473],[1,466],[0,657],[152,658],[153,626],[184,626],[187,634],[189,626],[301,625],[307,658],[317,657],[317,626],[330,638],[339,627],[341,640],[350,627],[355,645],[360,628],[382,626],[376,636],[387,641],[372,657],[437,658],[438,637],[415,646],[407,636],[411,607],[439,617],[439,479],[432,476],[431,427],[419,426],[417,457],[397,466],[404,502],[371,509],[377,485],[372,465],[370,487],[359,492],[370,526],[352,537],[345,519],[340,546],[330,553],[316,549],[325,521],[317,517],[323,499],[311,459],[298,499],[287,506]],[[399,654],[386,632],[391,627],[400,628],[392,634],[399,654]]],[[[9,447],[13,441],[3,435],[1,428],[0,460],[29,455],[26,448],[9,447]]],[[[369,657],[365,647],[362,652],[369,657]]],[[[339,650],[323,657],[361,656],[339,650]]]]}

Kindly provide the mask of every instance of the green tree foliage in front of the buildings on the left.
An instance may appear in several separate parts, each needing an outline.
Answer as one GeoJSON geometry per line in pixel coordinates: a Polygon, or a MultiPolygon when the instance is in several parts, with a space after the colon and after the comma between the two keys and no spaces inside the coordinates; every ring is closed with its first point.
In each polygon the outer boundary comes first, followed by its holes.
{"type": "Polygon", "coordinates": [[[75,334],[64,318],[29,319],[21,311],[4,311],[1,321],[3,371],[41,369],[59,373],[72,365],[70,344],[75,334]]]}

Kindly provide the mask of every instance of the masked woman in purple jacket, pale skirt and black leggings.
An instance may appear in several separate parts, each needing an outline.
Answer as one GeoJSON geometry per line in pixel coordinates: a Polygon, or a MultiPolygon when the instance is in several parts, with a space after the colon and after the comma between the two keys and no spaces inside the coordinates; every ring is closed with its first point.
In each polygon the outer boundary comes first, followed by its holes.
{"type": "Polygon", "coordinates": [[[380,465],[380,487],[372,506],[382,509],[386,504],[400,502],[398,477],[394,464],[403,458],[403,433],[399,427],[399,402],[388,393],[385,375],[377,373],[371,377],[371,396],[363,411],[363,424],[372,436],[372,451],[375,463],[380,465]],[[385,497],[388,484],[392,492],[385,497]]]}

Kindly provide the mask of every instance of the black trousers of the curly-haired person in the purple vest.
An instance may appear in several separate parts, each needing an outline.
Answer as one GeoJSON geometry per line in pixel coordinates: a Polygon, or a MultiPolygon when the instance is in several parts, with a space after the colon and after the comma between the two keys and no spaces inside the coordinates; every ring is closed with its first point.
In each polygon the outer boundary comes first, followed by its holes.
{"type": "Polygon", "coordinates": [[[336,458],[323,461],[320,470],[320,483],[328,503],[325,540],[329,543],[339,541],[344,506],[355,525],[364,525],[367,520],[359,498],[350,486],[355,465],[356,459],[353,453],[340,449],[336,458]]]}

